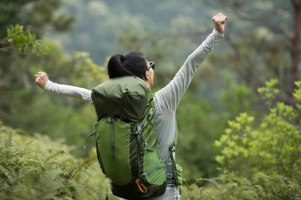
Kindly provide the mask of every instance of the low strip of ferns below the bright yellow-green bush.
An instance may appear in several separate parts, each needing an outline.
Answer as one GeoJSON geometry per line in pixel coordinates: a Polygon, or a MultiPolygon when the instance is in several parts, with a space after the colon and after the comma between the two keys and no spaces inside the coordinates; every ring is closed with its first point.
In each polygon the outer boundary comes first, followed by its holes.
{"type": "Polygon", "coordinates": [[[301,199],[301,188],[296,182],[281,175],[255,173],[252,180],[237,177],[237,174],[221,174],[218,178],[199,178],[195,184],[183,187],[181,199],[301,199]],[[198,187],[198,181],[210,184],[198,187]]]}

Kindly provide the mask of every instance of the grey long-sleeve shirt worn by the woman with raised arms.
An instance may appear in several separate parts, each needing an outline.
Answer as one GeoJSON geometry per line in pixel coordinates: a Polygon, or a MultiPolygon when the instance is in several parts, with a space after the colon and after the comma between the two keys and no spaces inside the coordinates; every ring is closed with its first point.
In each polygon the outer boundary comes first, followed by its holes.
{"type": "MultiPolygon", "coordinates": [[[[158,146],[163,161],[167,159],[170,153],[169,146],[174,139],[177,106],[191,83],[196,70],[223,36],[214,29],[206,40],[188,56],[174,79],[155,93],[158,146]]],[[[66,96],[77,97],[92,104],[91,90],[85,88],[57,84],[49,80],[46,82],[44,89],[66,96]]],[[[165,194],[151,199],[176,199],[176,195],[176,187],[171,186],[165,194]]]]}

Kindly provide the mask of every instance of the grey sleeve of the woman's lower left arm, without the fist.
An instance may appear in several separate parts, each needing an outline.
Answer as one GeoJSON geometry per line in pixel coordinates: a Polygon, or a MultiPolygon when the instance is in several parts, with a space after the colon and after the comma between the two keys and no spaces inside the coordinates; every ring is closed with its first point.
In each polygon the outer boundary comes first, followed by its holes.
{"type": "Polygon", "coordinates": [[[86,103],[93,104],[91,98],[91,90],[85,89],[82,87],[75,87],[71,85],[58,84],[50,80],[44,85],[44,89],[51,91],[53,93],[63,94],[69,97],[79,98],[80,100],[85,101],[86,103]]]}

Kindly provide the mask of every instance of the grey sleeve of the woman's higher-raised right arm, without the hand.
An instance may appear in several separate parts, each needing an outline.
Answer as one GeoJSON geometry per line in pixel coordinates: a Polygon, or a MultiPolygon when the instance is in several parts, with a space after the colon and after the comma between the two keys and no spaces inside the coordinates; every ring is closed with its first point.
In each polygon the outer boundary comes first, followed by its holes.
{"type": "Polygon", "coordinates": [[[155,99],[162,106],[161,109],[176,112],[178,104],[191,83],[196,70],[223,37],[224,34],[220,34],[214,29],[206,40],[188,56],[173,80],[155,93],[155,99]]]}

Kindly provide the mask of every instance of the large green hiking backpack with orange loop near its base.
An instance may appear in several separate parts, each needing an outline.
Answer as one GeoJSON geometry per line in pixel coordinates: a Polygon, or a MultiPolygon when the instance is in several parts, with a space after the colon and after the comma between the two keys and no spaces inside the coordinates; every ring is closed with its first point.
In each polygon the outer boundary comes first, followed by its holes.
{"type": "Polygon", "coordinates": [[[154,94],[141,78],[108,79],[93,88],[91,97],[98,117],[94,131],[97,157],[102,172],[110,178],[114,195],[127,199],[162,195],[167,176],[180,185],[172,153],[177,131],[170,156],[163,162],[158,149],[154,94]],[[169,162],[173,172],[167,174],[169,162]]]}

